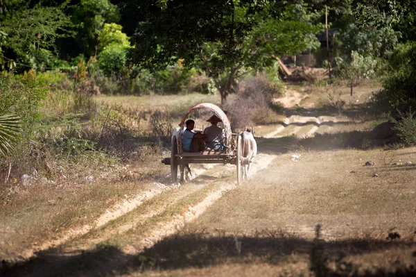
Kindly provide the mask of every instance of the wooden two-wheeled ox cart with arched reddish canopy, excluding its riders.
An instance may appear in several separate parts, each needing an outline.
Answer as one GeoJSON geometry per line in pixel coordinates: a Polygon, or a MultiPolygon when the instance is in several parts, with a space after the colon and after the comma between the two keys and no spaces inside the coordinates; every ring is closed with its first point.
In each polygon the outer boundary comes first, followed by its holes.
{"type": "Polygon", "coordinates": [[[164,158],[162,163],[164,165],[171,165],[172,182],[178,182],[178,168],[180,175],[180,183],[185,180],[185,175],[188,173],[189,164],[231,164],[236,165],[237,183],[241,183],[243,179],[243,167],[247,159],[243,158],[243,146],[241,142],[241,133],[232,133],[230,121],[225,115],[225,112],[218,106],[212,103],[200,103],[191,108],[180,121],[179,127],[173,130],[171,139],[171,157],[164,158]],[[198,152],[185,152],[182,146],[182,133],[184,131],[185,121],[188,115],[195,109],[208,108],[215,112],[215,115],[221,119],[224,126],[224,142],[225,151],[214,151],[206,149],[198,152]]]}

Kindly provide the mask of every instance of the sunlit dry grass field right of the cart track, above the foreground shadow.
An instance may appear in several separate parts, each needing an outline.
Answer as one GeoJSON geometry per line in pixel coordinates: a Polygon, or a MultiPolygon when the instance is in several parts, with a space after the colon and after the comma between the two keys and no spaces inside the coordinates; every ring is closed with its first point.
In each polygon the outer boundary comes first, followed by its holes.
{"type": "Polygon", "coordinates": [[[416,171],[413,165],[392,164],[413,160],[414,151],[303,151],[295,160],[293,153],[285,154],[255,181],[224,196],[196,226],[278,227],[313,237],[313,228],[320,223],[324,233],[336,237],[372,228],[385,237],[393,227],[411,237],[416,224],[416,171]],[[367,160],[375,165],[366,167],[367,160]]]}

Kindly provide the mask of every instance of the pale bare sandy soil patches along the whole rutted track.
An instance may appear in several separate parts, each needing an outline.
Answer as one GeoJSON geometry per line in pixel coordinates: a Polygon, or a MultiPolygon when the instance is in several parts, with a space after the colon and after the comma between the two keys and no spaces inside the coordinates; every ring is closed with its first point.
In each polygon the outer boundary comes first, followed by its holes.
{"type": "MultiPolygon", "coordinates": [[[[285,96],[281,97],[280,99],[275,99],[275,101],[282,103],[284,108],[293,108],[295,106],[298,106],[305,98],[306,94],[301,94],[296,90],[288,89],[286,90],[285,96]]],[[[275,131],[272,131],[264,135],[263,137],[310,137],[313,136],[314,133],[319,132],[320,129],[324,129],[325,132],[329,132],[329,129],[336,128],[336,123],[339,122],[346,123],[348,122],[348,119],[345,117],[333,116],[310,117],[302,115],[290,115],[288,117],[285,117],[281,124],[275,125],[275,131]]],[[[267,149],[267,146],[265,146],[265,149],[267,149]]],[[[252,166],[252,175],[268,167],[272,160],[274,160],[277,156],[279,156],[286,150],[284,149],[284,147],[279,148],[279,146],[277,146],[274,147],[274,151],[276,153],[275,155],[269,153],[261,153],[261,151],[259,151],[260,153],[255,158],[254,165],[252,166]]],[[[200,165],[196,165],[192,169],[193,174],[190,176],[190,180],[204,174],[205,171],[215,166],[216,165],[205,165],[201,167],[200,165]]],[[[66,230],[58,238],[49,240],[40,246],[34,246],[33,249],[27,249],[26,251],[21,253],[21,258],[29,259],[33,257],[37,251],[44,251],[46,249],[50,249],[51,247],[60,246],[62,244],[65,244],[66,242],[76,239],[76,237],[87,235],[88,233],[91,233],[94,230],[101,228],[105,224],[108,224],[110,221],[119,217],[123,217],[123,215],[127,214],[128,212],[135,210],[141,204],[143,204],[144,201],[150,200],[153,197],[167,192],[169,190],[175,190],[178,186],[180,186],[161,183],[154,183],[153,185],[154,189],[149,190],[148,192],[144,192],[143,194],[130,197],[130,199],[125,199],[125,201],[114,205],[113,208],[110,208],[109,210],[105,211],[103,215],[101,215],[101,217],[98,217],[98,219],[96,219],[91,224],[87,224],[77,229],[66,230]]],[[[210,205],[214,204],[216,200],[220,199],[224,192],[233,190],[235,187],[236,182],[221,186],[220,188],[218,188],[218,190],[211,192],[211,194],[209,194],[209,196],[207,196],[207,198],[205,198],[203,201],[198,203],[198,205],[189,207],[188,212],[186,212],[184,215],[180,217],[175,217],[167,224],[163,224],[163,226],[154,229],[153,232],[150,233],[150,235],[148,235],[148,237],[144,237],[141,240],[140,245],[142,245],[142,247],[125,248],[123,249],[123,251],[125,251],[125,253],[128,254],[139,253],[143,249],[143,247],[149,247],[153,245],[155,242],[162,240],[163,237],[175,233],[179,228],[182,228],[185,224],[197,219],[200,215],[202,215],[202,213],[210,205]]],[[[112,230],[111,233],[104,233],[103,235],[101,235],[101,237],[94,237],[90,241],[84,240],[83,244],[97,244],[99,242],[108,240],[114,234],[125,233],[131,228],[133,228],[133,226],[135,226],[135,224],[137,224],[138,221],[153,217],[157,215],[157,212],[159,211],[145,213],[141,215],[141,217],[137,218],[135,221],[130,222],[129,224],[122,224],[120,226],[117,226],[117,228],[112,230]]],[[[81,248],[83,247],[80,246],[80,249],[81,248]]]]}

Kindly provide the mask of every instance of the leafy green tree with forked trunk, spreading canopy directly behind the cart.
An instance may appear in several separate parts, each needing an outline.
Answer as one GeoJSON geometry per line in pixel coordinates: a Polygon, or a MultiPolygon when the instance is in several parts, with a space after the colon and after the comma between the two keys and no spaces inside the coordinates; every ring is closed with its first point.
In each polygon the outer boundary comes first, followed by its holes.
{"type": "Polygon", "coordinates": [[[271,54],[305,50],[306,35],[319,30],[310,22],[288,18],[284,1],[277,0],[130,0],[130,4],[139,6],[141,15],[132,36],[132,61],[153,70],[177,58],[183,58],[188,68],[202,63],[222,103],[245,69],[270,64],[271,54]]]}

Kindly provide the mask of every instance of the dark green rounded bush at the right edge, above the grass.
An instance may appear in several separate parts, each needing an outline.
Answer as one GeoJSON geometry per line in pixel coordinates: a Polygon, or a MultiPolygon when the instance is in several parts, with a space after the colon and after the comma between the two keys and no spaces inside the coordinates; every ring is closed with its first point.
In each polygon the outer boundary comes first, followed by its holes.
{"type": "Polygon", "coordinates": [[[408,42],[397,47],[389,65],[383,79],[383,87],[391,106],[408,103],[416,110],[416,42],[408,42]]]}

